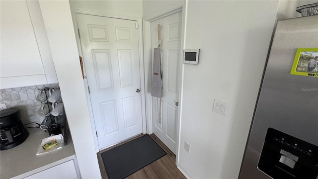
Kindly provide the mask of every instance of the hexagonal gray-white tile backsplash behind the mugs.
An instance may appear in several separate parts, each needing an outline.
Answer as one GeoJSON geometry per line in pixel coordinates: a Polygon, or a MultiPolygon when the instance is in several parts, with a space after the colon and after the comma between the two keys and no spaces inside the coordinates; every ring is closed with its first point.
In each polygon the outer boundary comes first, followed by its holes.
{"type": "Polygon", "coordinates": [[[14,89],[0,89],[0,103],[5,103],[6,107],[18,108],[21,110],[22,122],[36,122],[41,124],[44,116],[39,116],[36,112],[42,103],[36,100],[40,89],[44,88],[60,89],[59,84],[39,85],[32,87],[22,87],[14,89]]]}

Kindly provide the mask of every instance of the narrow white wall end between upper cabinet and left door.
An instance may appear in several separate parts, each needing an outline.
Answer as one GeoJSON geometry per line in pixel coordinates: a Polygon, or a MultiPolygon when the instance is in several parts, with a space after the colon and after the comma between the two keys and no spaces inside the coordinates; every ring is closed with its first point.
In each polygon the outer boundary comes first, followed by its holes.
{"type": "Polygon", "coordinates": [[[83,179],[100,179],[70,5],[40,0],[45,28],[83,179]]]}

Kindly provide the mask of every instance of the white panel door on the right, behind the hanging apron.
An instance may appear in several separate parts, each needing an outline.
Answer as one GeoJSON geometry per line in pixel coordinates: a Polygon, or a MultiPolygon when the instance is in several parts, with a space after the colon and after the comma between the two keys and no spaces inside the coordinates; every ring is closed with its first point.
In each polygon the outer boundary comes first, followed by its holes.
{"type": "MultiPolygon", "coordinates": [[[[175,154],[179,97],[179,64],[181,45],[182,12],[158,19],[151,23],[152,58],[158,47],[158,24],[161,24],[161,65],[163,89],[160,98],[153,101],[153,132],[175,154]]],[[[152,59],[154,60],[154,59],[152,59]]]]}

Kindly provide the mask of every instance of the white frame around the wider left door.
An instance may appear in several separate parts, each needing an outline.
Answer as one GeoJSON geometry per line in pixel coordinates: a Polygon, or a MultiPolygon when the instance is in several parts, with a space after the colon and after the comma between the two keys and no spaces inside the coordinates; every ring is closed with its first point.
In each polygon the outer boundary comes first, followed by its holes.
{"type": "MultiPolygon", "coordinates": [[[[84,14],[84,15],[94,15],[94,16],[101,16],[101,17],[108,17],[108,18],[116,18],[116,19],[124,19],[124,20],[132,20],[136,21],[139,24],[138,28],[138,49],[139,49],[139,69],[140,69],[140,88],[141,90],[141,109],[142,109],[142,126],[143,126],[143,134],[147,133],[147,126],[146,126],[146,95],[145,95],[145,68],[144,68],[144,49],[143,49],[143,21],[141,17],[130,17],[130,16],[121,16],[121,15],[115,15],[115,14],[106,14],[101,12],[93,12],[90,10],[82,9],[82,8],[71,8],[72,13],[72,20],[73,20],[73,27],[74,27],[74,33],[76,36],[76,41],[78,45],[78,52],[79,56],[83,57],[82,53],[82,47],[80,44],[80,39],[78,35],[78,22],[76,14],[84,14]]],[[[83,71],[84,75],[86,75],[85,70],[85,60],[83,59],[83,71]]],[[[96,127],[95,127],[95,120],[93,117],[93,108],[91,105],[90,95],[88,92],[88,82],[87,79],[83,79],[84,86],[85,86],[85,93],[86,93],[86,100],[87,100],[87,107],[89,111],[89,118],[91,123],[91,128],[93,131],[93,137],[94,137],[94,144],[95,144],[95,151],[96,153],[99,152],[99,144],[97,140],[97,134],[96,127]]]]}

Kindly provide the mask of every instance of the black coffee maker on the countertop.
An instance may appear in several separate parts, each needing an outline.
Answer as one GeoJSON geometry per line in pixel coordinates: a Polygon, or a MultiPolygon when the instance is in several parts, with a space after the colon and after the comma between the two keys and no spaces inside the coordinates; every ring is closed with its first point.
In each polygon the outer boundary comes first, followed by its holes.
{"type": "Polygon", "coordinates": [[[20,109],[11,108],[0,111],[0,150],[11,149],[29,136],[21,121],[20,109]]]}

